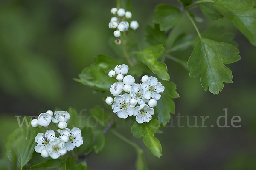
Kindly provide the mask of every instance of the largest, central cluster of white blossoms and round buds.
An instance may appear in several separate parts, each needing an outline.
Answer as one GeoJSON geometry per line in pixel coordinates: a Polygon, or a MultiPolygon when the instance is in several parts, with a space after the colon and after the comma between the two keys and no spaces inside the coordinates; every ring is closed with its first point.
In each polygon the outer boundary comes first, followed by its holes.
{"type": "Polygon", "coordinates": [[[112,105],[114,113],[120,118],[136,116],[138,123],[149,122],[154,114],[154,107],[164,91],[164,86],[155,77],[143,76],[141,84],[135,83],[134,77],[126,75],[128,66],[117,65],[109,71],[108,76],[116,78],[118,82],[111,85],[109,91],[115,98],[107,97],[106,103],[112,105]],[[117,75],[116,75],[117,74],[117,75]]]}

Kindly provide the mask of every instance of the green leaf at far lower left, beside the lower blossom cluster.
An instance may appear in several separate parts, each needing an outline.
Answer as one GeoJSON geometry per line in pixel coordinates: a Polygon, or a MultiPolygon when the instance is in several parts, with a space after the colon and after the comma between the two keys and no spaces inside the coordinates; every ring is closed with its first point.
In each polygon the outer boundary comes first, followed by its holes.
{"type": "Polygon", "coordinates": [[[32,158],[35,147],[36,133],[30,128],[18,128],[12,132],[6,140],[6,155],[11,159],[14,155],[17,159],[17,167],[22,169],[32,158]]]}

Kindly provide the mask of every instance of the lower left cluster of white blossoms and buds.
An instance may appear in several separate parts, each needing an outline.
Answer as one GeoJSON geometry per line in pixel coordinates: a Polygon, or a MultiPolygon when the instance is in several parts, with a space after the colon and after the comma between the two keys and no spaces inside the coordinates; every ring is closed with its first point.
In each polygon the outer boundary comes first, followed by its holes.
{"type": "Polygon", "coordinates": [[[37,119],[31,121],[32,127],[48,126],[51,122],[58,123],[60,134],[58,138],[55,132],[51,129],[44,133],[38,133],[35,137],[35,151],[41,153],[41,156],[46,158],[50,156],[57,159],[61,155],[65,155],[67,151],[73,150],[83,144],[83,137],[81,130],[74,127],[72,130],[67,128],[67,121],[70,119],[70,114],[67,111],[47,111],[41,113],[37,119]],[[54,115],[54,117],[53,117],[54,115]]]}

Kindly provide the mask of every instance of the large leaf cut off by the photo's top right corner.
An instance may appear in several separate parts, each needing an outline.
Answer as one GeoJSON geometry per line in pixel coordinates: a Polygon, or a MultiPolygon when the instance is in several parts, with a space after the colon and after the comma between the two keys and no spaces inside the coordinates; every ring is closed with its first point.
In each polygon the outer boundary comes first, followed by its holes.
{"type": "Polygon", "coordinates": [[[256,46],[256,0],[216,0],[214,6],[256,46]]]}

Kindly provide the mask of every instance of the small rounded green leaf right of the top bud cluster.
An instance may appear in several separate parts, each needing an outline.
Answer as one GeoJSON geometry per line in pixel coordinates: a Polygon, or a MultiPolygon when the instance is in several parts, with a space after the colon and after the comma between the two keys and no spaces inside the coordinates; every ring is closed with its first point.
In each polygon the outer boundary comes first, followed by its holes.
{"type": "Polygon", "coordinates": [[[180,10],[166,4],[159,4],[154,10],[154,23],[160,25],[161,31],[168,31],[174,27],[180,19],[180,10]]]}

